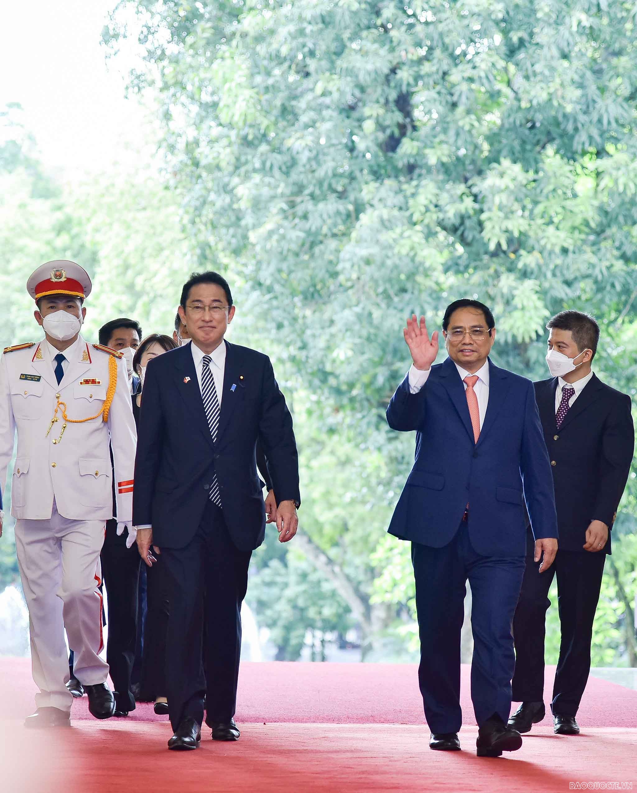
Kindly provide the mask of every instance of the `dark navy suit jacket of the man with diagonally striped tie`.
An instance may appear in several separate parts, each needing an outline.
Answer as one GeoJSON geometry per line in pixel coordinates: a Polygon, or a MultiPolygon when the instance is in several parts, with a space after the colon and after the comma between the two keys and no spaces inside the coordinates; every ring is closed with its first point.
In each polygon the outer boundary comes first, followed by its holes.
{"type": "Polygon", "coordinates": [[[265,510],[255,462],[260,438],[278,503],[300,501],[292,416],[267,355],[226,345],[217,441],[210,435],[190,344],[148,363],[132,496],[133,524],[153,543],[181,548],[194,537],[217,473],[221,508],[240,550],[263,542],[265,510]],[[190,378],[190,379],[188,379],[190,378]]]}

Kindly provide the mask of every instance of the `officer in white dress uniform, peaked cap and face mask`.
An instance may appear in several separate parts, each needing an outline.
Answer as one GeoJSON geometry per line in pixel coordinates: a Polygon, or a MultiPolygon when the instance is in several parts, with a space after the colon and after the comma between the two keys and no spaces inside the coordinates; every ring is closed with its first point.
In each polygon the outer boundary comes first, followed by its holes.
{"type": "Polygon", "coordinates": [[[79,335],[90,288],[75,262],[39,267],[27,290],[45,338],[7,347],[0,361],[0,488],[17,431],[11,514],[40,689],[29,727],[70,723],[65,628],[90,712],[109,718],[115,710],[109,666],[99,656],[99,554],[113,517],[109,442],[122,531],[132,517],[136,429],[121,354],[79,335]]]}

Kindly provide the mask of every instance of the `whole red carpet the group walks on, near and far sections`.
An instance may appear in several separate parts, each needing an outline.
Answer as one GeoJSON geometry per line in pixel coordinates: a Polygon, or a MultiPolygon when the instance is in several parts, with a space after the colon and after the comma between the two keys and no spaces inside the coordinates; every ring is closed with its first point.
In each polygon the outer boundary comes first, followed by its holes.
{"type": "Polygon", "coordinates": [[[74,705],[73,729],[26,733],[21,719],[33,711],[34,690],[29,662],[0,659],[6,718],[0,722],[0,790],[528,793],[567,791],[571,782],[637,787],[637,691],[591,678],[578,714],[581,736],[555,736],[539,726],[520,751],[478,759],[468,670],[462,672],[463,752],[428,749],[411,665],[244,664],[241,740],[219,744],[205,731],[197,752],[172,753],[167,720],[157,719],[150,705],[138,705],[132,718],[97,722],[86,716],[84,698],[74,705]]]}

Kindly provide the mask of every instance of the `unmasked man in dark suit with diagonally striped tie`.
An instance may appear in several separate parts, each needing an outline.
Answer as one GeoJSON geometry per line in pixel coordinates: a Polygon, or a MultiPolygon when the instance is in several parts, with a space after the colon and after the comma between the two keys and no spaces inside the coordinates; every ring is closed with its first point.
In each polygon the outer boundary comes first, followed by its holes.
{"type": "Polygon", "coordinates": [[[259,438],[277,496],[281,542],[297,531],[300,503],[292,417],[266,355],[224,341],[235,314],[228,283],[194,274],[179,306],[191,343],[148,364],[140,412],[133,523],[142,559],[163,555],[170,577],[167,698],[170,749],[236,741],[240,607],[265,511],[255,462],[259,438]],[[205,608],[203,604],[205,593],[205,608]],[[207,670],[201,665],[206,615],[207,670]]]}

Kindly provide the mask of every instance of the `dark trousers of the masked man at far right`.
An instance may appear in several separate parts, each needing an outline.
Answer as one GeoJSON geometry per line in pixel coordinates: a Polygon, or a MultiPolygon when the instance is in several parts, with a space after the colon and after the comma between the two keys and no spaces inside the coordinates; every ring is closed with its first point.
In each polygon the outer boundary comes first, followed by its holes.
{"type": "Polygon", "coordinates": [[[546,573],[539,562],[527,557],[520,600],[513,618],[516,645],[516,672],[512,699],[541,702],[544,691],[544,636],[548,591],[554,576],[558,580],[558,611],[562,630],[558,668],[555,672],[551,710],[559,716],[578,712],[590,671],[590,644],[593,619],[600,597],[606,554],[558,550],[546,573]]]}

